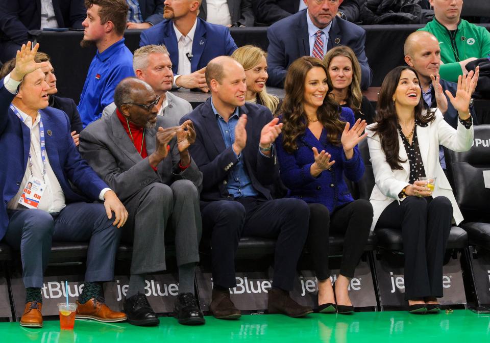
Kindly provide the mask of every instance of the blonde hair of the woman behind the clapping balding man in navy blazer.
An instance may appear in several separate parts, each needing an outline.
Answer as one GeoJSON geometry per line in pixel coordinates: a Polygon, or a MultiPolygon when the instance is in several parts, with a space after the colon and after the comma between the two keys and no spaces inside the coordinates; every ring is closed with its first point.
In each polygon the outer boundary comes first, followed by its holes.
{"type": "MultiPolygon", "coordinates": [[[[243,66],[243,69],[247,71],[259,64],[262,57],[267,57],[267,53],[257,46],[244,45],[233,51],[231,57],[240,63],[243,66]]],[[[276,112],[279,98],[275,95],[268,94],[265,86],[262,92],[257,93],[257,97],[266,108],[271,110],[272,113],[276,112]]]]}

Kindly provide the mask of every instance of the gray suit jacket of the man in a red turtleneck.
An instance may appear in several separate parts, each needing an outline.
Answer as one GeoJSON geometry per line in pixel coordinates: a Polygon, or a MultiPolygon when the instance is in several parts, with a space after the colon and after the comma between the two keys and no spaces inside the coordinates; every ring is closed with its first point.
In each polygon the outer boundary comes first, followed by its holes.
{"type": "MultiPolygon", "coordinates": [[[[157,118],[156,127],[165,127],[162,117],[157,118]]],[[[146,151],[151,155],[156,149],[156,129],[145,130],[146,151]]],[[[141,188],[153,182],[170,185],[175,180],[192,181],[199,190],[203,175],[192,159],[191,165],[181,171],[179,168],[180,154],[177,139],[170,143],[171,154],[168,154],[153,170],[148,157],[143,159],[135,149],[117,114],[102,117],[85,127],[80,133],[79,151],[82,157],[125,202],[141,188]]]]}

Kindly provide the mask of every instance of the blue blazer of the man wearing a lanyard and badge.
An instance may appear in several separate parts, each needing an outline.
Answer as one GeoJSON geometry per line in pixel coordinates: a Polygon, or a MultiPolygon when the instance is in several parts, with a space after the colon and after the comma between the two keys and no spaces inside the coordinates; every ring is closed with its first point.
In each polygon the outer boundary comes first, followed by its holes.
{"type": "MultiPolygon", "coordinates": [[[[31,133],[10,109],[10,103],[15,95],[5,88],[3,79],[0,85],[0,161],[4,162],[0,169],[1,240],[9,225],[7,204],[17,194],[19,188],[24,186],[21,182],[29,160],[31,133]]],[[[70,122],[66,114],[51,107],[39,110],[39,113],[44,125],[46,153],[51,168],[60,182],[66,202],[98,200],[101,191],[107,188],[107,184],[80,157],[70,136],[70,122]],[[51,131],[51,136],[47,134],[48,130],[51,131]],[[72,190],[69,181],[83,190],[83,194],[72,190]]]]}

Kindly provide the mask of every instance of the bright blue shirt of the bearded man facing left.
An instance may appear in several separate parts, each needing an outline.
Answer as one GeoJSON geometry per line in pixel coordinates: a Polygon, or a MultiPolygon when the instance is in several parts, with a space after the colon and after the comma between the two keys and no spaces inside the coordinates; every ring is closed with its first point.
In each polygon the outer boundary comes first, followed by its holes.
{"type": "Polygon", "coordinates": [[[83,85],[77,106],[83,127],[102,116],[104,108],[114,101],[114,90],[125,77],[134,76],[133,54],[124,45],[124,38],[97,51],[83,85]]]}

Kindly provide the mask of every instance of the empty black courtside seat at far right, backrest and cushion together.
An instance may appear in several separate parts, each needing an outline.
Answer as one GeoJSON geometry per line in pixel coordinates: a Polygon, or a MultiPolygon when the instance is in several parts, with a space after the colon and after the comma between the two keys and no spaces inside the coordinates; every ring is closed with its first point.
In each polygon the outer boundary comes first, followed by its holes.
{"type": "Polygon", "coordinates": [[[447,150],[446,164],[464,216],[461,227],[468,231],[471,245],[490,249],[490,189],[483,179],[484,172],[490,173],[490,125],[477,125],[474,130],[471,149],[447,150]]]}

